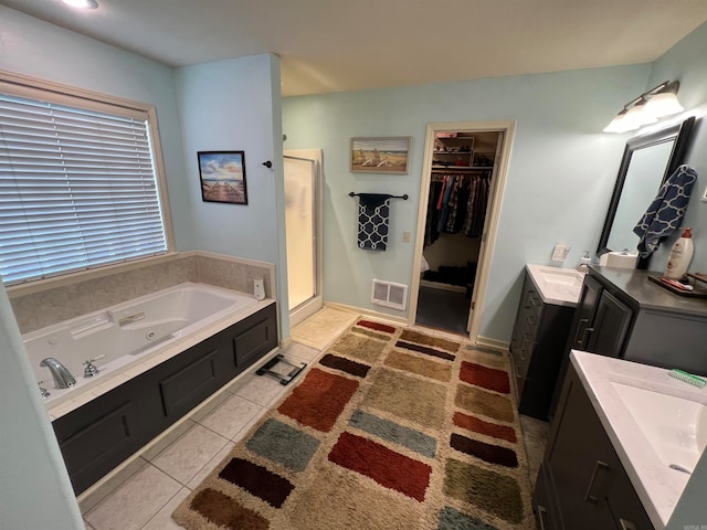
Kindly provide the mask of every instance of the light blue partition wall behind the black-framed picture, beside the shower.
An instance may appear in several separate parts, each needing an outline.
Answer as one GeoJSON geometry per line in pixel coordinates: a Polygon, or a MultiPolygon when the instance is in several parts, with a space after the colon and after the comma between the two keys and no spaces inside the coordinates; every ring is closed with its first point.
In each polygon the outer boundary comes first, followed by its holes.
{"type": "Polygon", "coordinates": [[[179,68],[177,92],[190,201],[184,215],[196,246],[276,264],[281,332],[288,337],[279,60],[266,54],[179,68]],[[201,200],[197,152],[219,150],[245,151],[247,205],[201,200]]]}

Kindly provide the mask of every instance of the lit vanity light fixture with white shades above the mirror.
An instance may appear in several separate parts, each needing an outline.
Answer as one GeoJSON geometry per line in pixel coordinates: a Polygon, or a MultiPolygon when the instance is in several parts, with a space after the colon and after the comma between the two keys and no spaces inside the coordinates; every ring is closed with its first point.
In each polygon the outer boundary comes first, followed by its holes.
{"type": "Polygon", "coordinates": [[[677,100],[678,81],[666,81],[624,105],[604,132],[626,132],[685,110],[677,100]]]}

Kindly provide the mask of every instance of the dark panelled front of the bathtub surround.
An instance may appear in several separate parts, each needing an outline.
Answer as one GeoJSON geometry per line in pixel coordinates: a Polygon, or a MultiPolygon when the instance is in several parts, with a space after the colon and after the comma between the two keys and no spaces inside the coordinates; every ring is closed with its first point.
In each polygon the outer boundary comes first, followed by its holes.
{"type": "Polygon", "coordinates": [[[55,420],[80,495],[277,347],[275,303],[55,420]]]}

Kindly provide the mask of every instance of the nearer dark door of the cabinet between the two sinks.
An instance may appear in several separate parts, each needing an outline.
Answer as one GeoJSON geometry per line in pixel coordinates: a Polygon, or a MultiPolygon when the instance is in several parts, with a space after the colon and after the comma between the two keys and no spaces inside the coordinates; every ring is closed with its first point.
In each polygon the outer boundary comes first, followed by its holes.
{"type": "Polygon", "coordinates": [[[587,351],[621,357],[632,316],[633,311],[625,304],[604,290],[597,305],[587,351]]]}

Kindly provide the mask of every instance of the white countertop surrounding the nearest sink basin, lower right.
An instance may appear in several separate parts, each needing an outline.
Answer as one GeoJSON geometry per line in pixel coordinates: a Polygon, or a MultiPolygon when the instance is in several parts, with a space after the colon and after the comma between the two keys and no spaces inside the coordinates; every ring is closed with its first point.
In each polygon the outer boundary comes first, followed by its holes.
{"type": "Polygon", "coordinates": [[[647,364],[576,350],[570,358],[651,521],[657,530],[665,529],[689,475],[659,459],[612,382],[703,404],[707,404],[707,388],[698,389],[647,364]]]}

